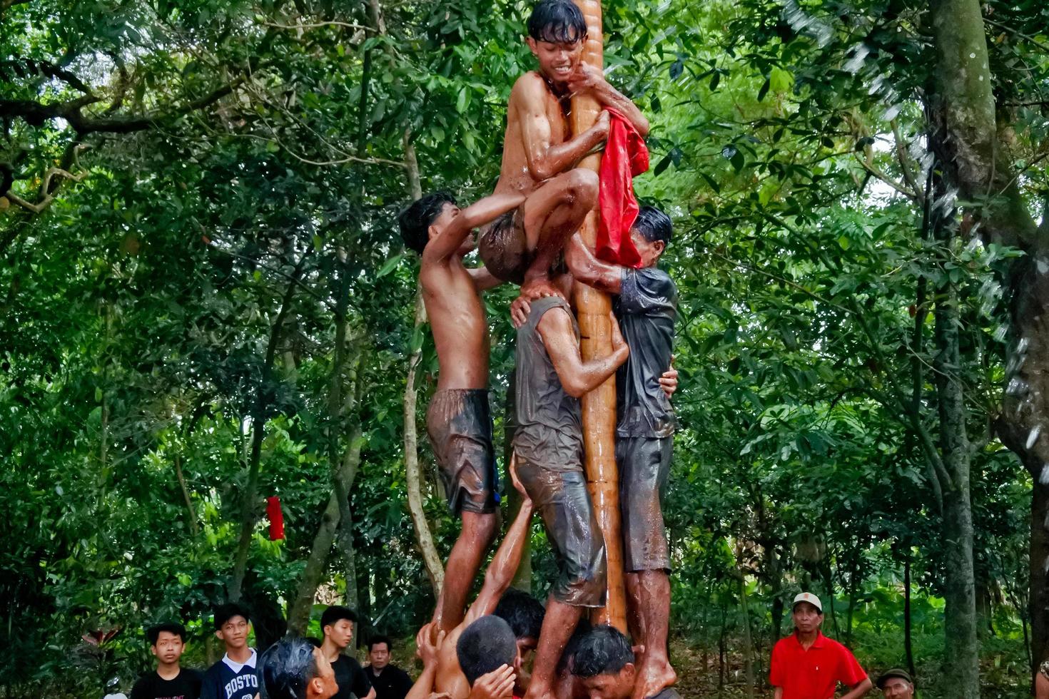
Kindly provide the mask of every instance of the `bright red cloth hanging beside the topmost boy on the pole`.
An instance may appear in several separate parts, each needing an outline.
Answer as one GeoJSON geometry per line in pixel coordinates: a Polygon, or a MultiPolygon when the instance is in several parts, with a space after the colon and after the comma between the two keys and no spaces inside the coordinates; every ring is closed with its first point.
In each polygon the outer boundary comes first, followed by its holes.
{"type": "Polygon", "coordinates": [[[630,240],[630,226],[639,211],[634,177],[648,170],[648,148],[629,119],[615,109],[605,109],[612,122],[598,171],[601,216],[594,255],[624,267],[640,267],[641,256],[630,240]]]}

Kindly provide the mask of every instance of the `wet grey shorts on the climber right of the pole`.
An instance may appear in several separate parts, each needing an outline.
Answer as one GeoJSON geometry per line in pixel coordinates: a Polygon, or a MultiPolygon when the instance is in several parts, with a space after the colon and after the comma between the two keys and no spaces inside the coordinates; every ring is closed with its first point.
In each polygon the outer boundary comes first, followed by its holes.
{"type": "Polygon", "coordinates": [[[672,436],[616,438],[623,563],[627,572],[670,569],[663,493],[672,453],[672,436]]]}

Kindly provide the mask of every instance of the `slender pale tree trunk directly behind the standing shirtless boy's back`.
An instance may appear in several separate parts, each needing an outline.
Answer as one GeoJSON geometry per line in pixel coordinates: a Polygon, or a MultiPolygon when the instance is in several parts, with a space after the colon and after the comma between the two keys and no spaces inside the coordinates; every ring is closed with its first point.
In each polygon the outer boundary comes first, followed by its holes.
{"type": "MultiPolygon", "coordinates": [[[[419,179],[419,160],[415,158],[415,148],[411,145],[410,130],[404,132],[404,160],[411,196],[419,199],[423,196],[423,188],[419,179]]],[[[413,337],[415,333],[422,332],[424,325],[426,325],[426,306],[423,305],[423,290],[419,288],[415,291],[413,337]]],[[[430,532],[430,523],[426,520],[426,511],[423,509],[423,479],[419,469],[419,437],[415,430],[415,403],[419,397],[415,372],[419,370],[422,357],[422,347],[415,348],[408,357],[408,377],[404,387],[404,471],[408,488],[408,512],[411,516],[412,528],[415,530],[415,543],[423,553],[426,574],[433,587],[433,598],[437,599],[445,584],[445,567],[441,563],[441,555],[430,532]]]]}

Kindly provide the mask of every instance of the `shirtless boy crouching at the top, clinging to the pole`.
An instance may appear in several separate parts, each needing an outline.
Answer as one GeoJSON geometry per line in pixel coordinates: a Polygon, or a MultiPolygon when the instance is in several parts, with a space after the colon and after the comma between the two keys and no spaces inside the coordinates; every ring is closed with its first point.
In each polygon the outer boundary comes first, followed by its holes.
{"type": "Polygon", "coordinates": [[[521,284],[522,296],[536,298],[557,294],[548,278],[550,266],[597,198],[596,173],[574,168],[608,137],[604,112],[590,129],[570,135],[570,97],[591,92],[624,114],[642,136],[648,122],[599,69],[581,63],[586,23],[571,0],[541,0],[528,31],[539,69],[518,78],[511,90],[495,185],[495,194],[521,193],[528,199],[486,226],[478,250],[492,275],[521,284]]]}

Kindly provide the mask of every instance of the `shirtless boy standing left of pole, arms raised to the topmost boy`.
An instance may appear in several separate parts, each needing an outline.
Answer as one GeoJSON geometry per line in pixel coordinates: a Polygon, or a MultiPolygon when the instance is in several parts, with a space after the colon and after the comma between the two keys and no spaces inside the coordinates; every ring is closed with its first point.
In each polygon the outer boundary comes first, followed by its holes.
{"type": "Polygon", "coordinates": [[[437,349],[437,391],[426,413],[448,504],[463,520],[434,610],[437,628],[463,620],[466,596],[498,527],[495,451],[488,405],[488,322],[480,291],[499,281],[484,267],[468,269],[470,233],[524,201],[494,194],[459,209],[451,195],[429,194],[401,214],[405,244],[420,254],[419,280],[437,349]]]}

